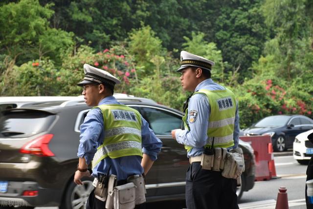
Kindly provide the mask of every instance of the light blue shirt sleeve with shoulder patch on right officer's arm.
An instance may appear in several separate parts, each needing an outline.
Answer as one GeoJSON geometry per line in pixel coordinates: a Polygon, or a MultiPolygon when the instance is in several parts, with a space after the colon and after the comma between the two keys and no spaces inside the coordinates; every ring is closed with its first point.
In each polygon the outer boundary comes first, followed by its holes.
{"type": "Polygon", "coordinates": [[[204,94],[197,93],[190,98],[188,104],[188,124],[190,131],[177,130],[176,140],[180,144],[192,147],[203,147],[207,140],[209,102],[204,94]],[[192,116],[192,120],[190,120],[192,116]]]}

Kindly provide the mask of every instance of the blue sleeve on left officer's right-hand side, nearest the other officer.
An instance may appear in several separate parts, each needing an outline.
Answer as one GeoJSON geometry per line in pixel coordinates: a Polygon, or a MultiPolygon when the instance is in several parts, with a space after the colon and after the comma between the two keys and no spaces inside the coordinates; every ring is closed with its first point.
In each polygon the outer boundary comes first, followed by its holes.
{"type": "Polygon", "coordinates": [[[152,161],[156,161],[157,154],[161,151],[162,142],[149,128],[148,122],[141,117],[142,152],[149,155],[152,161]]]}

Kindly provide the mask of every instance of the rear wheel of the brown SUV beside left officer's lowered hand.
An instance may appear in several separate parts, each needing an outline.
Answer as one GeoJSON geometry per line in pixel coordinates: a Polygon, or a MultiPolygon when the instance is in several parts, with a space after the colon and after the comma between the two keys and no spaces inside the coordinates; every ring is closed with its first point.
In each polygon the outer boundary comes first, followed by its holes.
{"type": "Polygon", "coordinates": [[[62,205],[59,209],[86,209],[89,194],[94,189],[92,180],[93,178],[82,178],[83,185],[76,185],[71,181],[67,186],[62,205]]]}

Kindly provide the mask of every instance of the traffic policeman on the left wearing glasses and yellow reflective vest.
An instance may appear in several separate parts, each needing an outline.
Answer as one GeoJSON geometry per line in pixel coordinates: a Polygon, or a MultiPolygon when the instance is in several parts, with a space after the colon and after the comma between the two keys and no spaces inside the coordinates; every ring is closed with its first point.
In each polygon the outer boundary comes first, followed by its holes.
{"type": "MultiPolygon", "coordinates": [[[[80,126],[79,163],[74,182],[82,185],[82,178],[90,176],[87,170],[92,161],[92,176],[116,175],[117,185],[127,178],[147,174],[161,150],[147,121],[134,109],[122,105],[113,97],[114,85],[120,81],[105,70],[84,65],[83,95],[89,111],[80,126]]],[[[107,176],[108,177],[108,176],[107,176]]],[[[106,202],[91,192],[87,209],[104,209],[106,202]]],[[[144,204],[136,208],[143,208],[144,204]]]]}

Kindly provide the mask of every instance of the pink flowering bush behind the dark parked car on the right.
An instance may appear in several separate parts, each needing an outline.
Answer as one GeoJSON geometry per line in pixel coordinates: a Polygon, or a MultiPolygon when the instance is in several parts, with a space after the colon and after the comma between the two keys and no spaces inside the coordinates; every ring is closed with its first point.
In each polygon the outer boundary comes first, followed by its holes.
{"type": "Polygon", "coordinates": [[[234,88],[239,101],[240,125],[245,128],[266,116],[300,114],[312,117],[313,99],[280,78],[256,76],[239,88],[234,88]]]}

